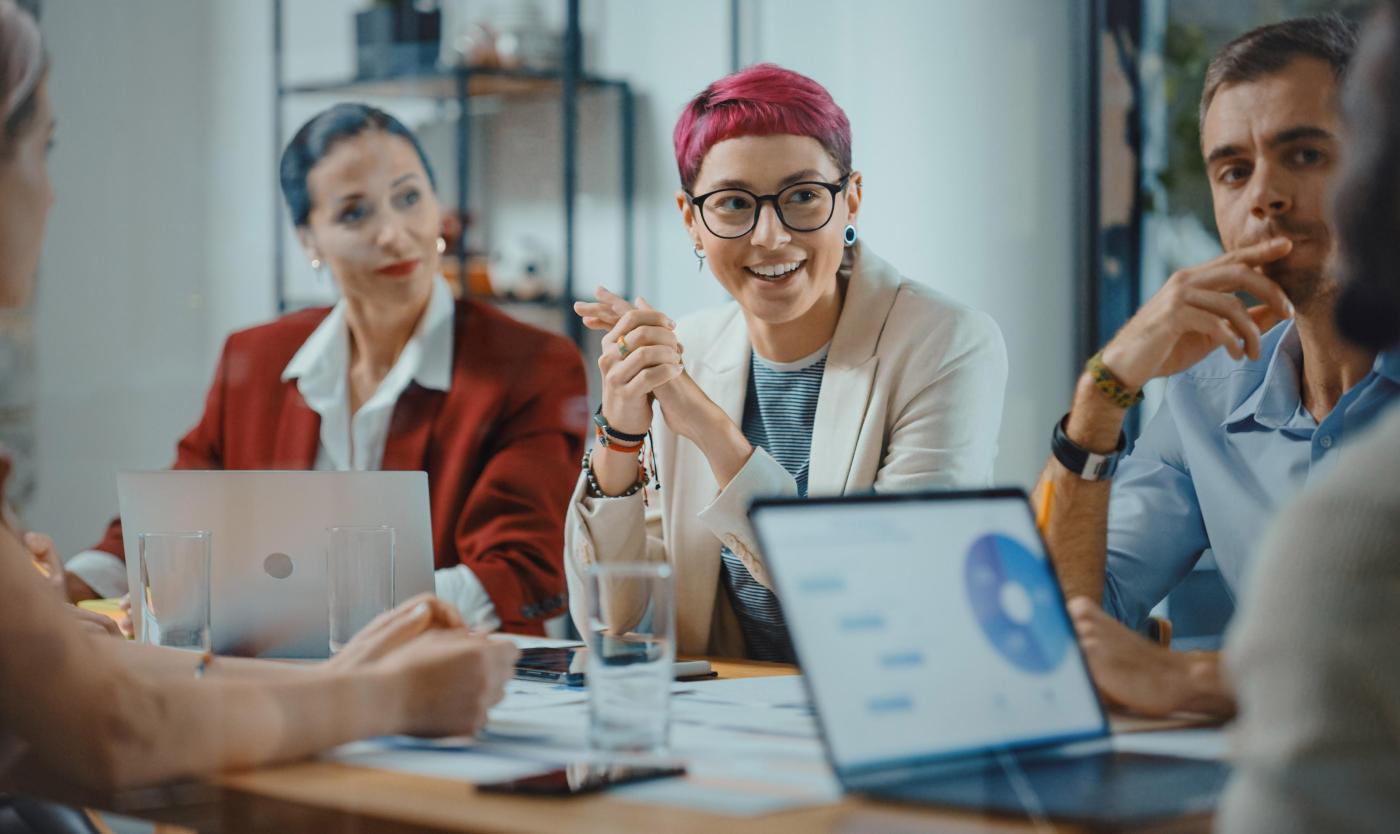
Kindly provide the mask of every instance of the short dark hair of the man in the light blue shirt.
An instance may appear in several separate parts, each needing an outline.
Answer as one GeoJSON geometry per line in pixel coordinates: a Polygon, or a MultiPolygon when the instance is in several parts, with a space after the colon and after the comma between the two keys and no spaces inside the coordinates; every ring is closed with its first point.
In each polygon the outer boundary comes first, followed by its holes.
{"type": "Polygon", "coordinates": [[[1250,29],[1226,43],[1205,67],[1201,88],[1200,126],[1205,111],[1225,84],[1242,84],[1271,76],[1299,57],[1315,57],[1331,66],[1338,83],[1357,52],[1357,24],[1340,14],[1320,14],[1250,29]]]}

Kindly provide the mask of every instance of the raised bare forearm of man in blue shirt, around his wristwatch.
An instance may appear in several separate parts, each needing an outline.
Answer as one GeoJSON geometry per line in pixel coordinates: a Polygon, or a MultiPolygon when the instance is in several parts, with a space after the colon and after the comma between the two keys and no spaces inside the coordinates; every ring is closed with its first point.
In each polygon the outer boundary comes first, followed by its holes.
{"type": "MultiPolygon", "coordinates": [[[[1065,434],[1091,452],[1112,452],[1123,431],[1123,409],[1081,376],[1065,434]]],[[[1065,596],[1088,596],[1102,603],[1110,481],[1084,480],[1050,458],[1036,490],[1040,501],[1044,501],[1047,483],[1053,484],[1053,498],[1044,535],[1065,596]]]]}

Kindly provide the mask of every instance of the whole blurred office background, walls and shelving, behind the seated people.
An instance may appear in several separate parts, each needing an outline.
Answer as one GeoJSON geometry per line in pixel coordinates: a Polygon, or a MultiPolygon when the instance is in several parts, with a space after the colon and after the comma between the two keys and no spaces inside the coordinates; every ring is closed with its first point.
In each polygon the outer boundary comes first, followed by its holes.
{"type": "Polygon", "coordinates": [[[57,206],[35,305],[0,322],[11,498],[63,553],[90,546],[116,512],[113,474],[172,460],[224,337],[333,301],[276,160],[337,101],[424,139],[465,220],[459,291],[585,351],[596,336],[567,305],[598,284],[672,316],[722,302],[675,206],[671,130],[756,62],[816,78],[848,113],[862,239],[1001,325],[997,476],[1029,487],[1082,360],[1218,250],[1196,134],[1211,53],[1257,24],[1366,6],[43,0],[57,206]]]}

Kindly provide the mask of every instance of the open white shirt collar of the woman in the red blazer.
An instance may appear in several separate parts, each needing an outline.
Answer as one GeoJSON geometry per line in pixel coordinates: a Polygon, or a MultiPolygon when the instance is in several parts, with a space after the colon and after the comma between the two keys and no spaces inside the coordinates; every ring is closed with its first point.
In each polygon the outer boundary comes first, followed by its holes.
{"type": "MultiPolygon", "coordinates": [[[[337,396],[350,362],[350,330],[344,299],[311,332],[281,372],[283,382],[297,379],[308,400],[337,396]]],[[[452,383],[452,292],[433,281],[428,306],[403,347],[400,358],[417,357],[412,378],[423,388],[447,390],[452,383]]]]}

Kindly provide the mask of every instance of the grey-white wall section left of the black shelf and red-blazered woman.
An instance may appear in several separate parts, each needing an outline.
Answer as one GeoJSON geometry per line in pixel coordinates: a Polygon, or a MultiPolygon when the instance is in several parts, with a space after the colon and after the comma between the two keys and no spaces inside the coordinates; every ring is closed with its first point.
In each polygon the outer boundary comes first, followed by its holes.
{"type": "Polygon", "coordinates": [[[43,6],[57,203],[35,311],[27,522],[71,553],[115,514],[113,473],[168,463],[202,406],[211,305],[224,295],[210,292],[211,4],[43,6]]]}

